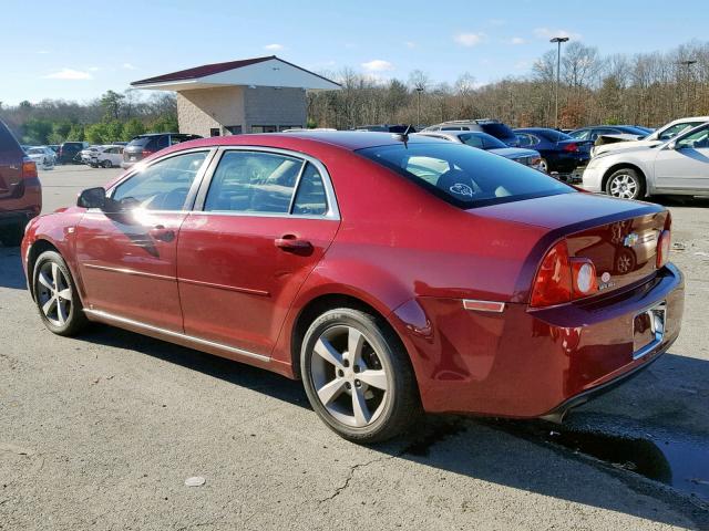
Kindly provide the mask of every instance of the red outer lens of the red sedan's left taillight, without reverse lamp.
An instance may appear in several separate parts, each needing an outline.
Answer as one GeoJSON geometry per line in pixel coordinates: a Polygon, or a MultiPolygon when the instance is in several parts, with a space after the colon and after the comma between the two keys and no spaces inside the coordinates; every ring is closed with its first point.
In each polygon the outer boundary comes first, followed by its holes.
{"type": "Polygon", "coordinates": [[[556,243],[542,260],[532,288],[532,306],[551,306],[572,300],[572,270],[566,241],[556,243]]]}

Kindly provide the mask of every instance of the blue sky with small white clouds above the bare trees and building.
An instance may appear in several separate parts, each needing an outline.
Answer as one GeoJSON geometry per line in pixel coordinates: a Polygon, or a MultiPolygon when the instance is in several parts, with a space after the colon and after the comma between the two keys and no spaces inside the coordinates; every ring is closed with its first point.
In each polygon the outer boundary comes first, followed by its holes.
{"type": "Polygon", "coordinates": [[[706,0],[0,0],[0,102],[88,101],[201,64],[278,55],[405,81],[525,75],[554,35],[602,54],[707,40],[706,0]],[[31,9],[28,9],[31,8],[31,9]],[[675,9],[677,8],[677,9],[675,9]]]}

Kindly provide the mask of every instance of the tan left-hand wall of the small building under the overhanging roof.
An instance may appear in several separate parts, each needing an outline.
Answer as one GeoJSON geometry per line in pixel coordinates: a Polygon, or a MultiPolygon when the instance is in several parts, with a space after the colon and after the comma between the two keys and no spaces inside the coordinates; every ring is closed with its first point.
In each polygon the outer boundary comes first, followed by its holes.
{"type": "Polygon", "coordinates": [[[181,133],[209,136],[216,127],[220,134],[227,125],[245,127],[243,86],[196,88],[177,93],[177,122],[181,133]]]}

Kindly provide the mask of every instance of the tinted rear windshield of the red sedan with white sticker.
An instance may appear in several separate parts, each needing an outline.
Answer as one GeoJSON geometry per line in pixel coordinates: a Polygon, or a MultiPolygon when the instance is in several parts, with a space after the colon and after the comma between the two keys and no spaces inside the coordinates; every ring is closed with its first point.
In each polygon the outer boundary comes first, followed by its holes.
{"type": "Polygon", "coordinates": [[[576,191],[536,169],[462,144],[399,144],[357,153],[460,208],[576,191]]]}

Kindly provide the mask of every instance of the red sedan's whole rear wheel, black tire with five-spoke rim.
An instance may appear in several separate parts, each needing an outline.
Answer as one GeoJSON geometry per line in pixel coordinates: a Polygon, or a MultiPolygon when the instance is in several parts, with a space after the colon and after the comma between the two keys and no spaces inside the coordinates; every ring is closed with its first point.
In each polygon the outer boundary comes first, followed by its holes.
{"type": "Polygon", "coordinates": [[[369,313],[339,308],[316,319],[302,340],[300,371],[315,412],[350,441],[390,439],[421,413],[407,352],[369,313]],[[356,345],[353,360],[349,344],[356,345]]]}

